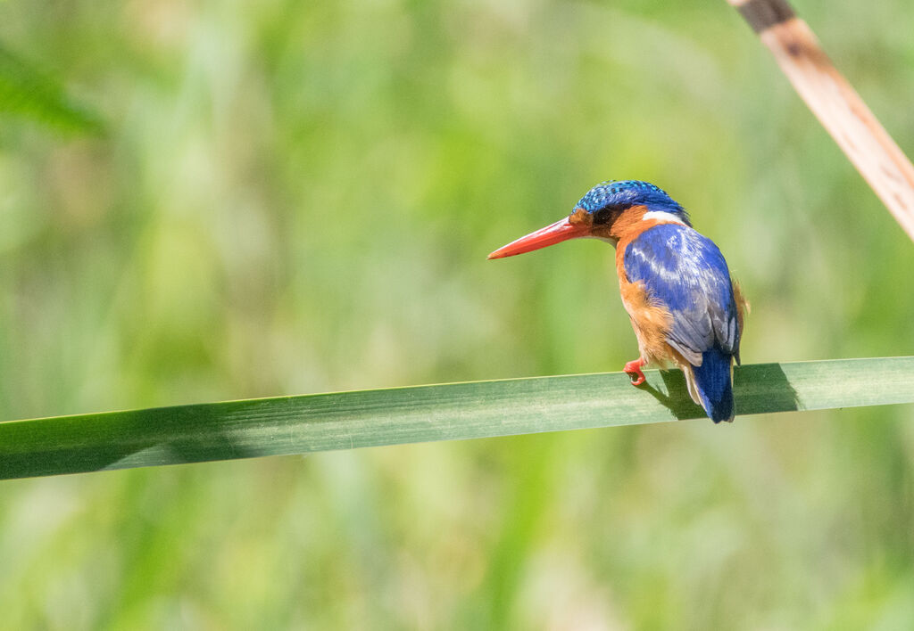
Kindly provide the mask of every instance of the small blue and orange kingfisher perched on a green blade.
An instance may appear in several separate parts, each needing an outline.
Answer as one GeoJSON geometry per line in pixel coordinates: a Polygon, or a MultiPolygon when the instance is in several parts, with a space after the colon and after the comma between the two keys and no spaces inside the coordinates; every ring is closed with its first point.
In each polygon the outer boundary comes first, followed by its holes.
{"type": "Polygon", "coordinates": [[[643,366],[675,364],[688,393],[715,423],[733,421],[733,363],[748,303],[711,239],[692,227],[685,208],[639,180],[597,184],[567,218],[499,247],[489,258],[513,257],[573,238],[616,248],[622,305],[640,356],[626,363],[632,385],[643,366]]]}

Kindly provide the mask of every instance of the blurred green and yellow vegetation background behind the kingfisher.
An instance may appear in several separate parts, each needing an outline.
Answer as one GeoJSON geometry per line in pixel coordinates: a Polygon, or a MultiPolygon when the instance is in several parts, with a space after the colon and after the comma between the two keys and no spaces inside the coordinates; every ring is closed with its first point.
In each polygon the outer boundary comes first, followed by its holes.
{"type": "MultiPolygon", "coordinates": [[[[914,153],[914,5],[796,8],[914,153]]],[[[721,247],[745,362],[914,352],[723,0],[5,0],[0,51],[2,419],[620,370],[611,248],[485,260],[604,179],[721,247]]],[[[0,626],[911,628],[912,462],[898,406],[3,482],[0,626]]]]}

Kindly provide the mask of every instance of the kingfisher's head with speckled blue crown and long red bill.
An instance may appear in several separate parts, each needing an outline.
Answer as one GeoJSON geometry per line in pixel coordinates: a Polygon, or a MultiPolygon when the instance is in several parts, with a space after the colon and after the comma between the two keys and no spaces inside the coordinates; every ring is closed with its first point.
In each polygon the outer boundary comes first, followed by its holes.
{"type": "Polygon", "coordinates": [[[691,226],[685,209],[654,184],[639,180],[602,182],[580,198],[571,215],[499,247],[489,258],[513,257],[581,237],[615,243],[619,238],[617,228],[624,223],[620,219],[633,218],[636,214],[640,218],[674,220],[691,226]]]}

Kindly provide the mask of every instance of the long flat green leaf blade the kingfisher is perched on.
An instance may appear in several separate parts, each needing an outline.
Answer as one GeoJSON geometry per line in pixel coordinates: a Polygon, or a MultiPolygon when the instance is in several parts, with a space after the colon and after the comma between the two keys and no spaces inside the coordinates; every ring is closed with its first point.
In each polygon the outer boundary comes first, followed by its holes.
{"type": "MultiPolygon", "coordinates": [[[[704,417],[679,371],[421,385],[0,423],[0,479],[704,417]]],[[[736,369],[739,415],[914,403],[914,357],[736,369]],[[879,364],[879,379],[863,377],[879,364]]]]}

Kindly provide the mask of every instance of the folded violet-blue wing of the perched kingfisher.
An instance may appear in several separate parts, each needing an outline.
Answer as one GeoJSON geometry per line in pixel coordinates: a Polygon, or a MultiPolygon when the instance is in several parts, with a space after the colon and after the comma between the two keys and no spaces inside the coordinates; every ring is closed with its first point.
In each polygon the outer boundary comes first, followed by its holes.
{"type": "Polygon", "coordinates": [[[719,348],[739,363],[739,320],[733,285],[714,242],[681,224],[645,230],[626,247],[625,274],[673,316],[666,342],[693,365],[719,348]]]}

